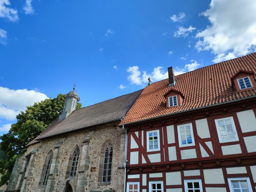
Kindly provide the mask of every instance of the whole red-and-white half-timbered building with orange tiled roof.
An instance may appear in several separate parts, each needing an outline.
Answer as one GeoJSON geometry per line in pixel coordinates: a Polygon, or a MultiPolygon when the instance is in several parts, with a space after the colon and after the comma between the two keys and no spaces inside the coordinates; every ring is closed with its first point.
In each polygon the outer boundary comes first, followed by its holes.
{"type": "Polygon", "coordinates": [[[256,53],[168,73],[120,124],[126,192],[256,192],[256,53]]]}

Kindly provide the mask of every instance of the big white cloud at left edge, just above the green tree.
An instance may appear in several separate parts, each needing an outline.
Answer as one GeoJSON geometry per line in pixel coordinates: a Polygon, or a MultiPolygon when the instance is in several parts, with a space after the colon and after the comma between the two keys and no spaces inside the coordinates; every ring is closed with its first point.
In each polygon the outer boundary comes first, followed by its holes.
{"type": "Polygon", "coordinates": [[[45,99],[47,96],[44,93],[34,90],[0,87],[0,118],[14,120],[20,111],[26,110],[27,106],[45,99]]]}

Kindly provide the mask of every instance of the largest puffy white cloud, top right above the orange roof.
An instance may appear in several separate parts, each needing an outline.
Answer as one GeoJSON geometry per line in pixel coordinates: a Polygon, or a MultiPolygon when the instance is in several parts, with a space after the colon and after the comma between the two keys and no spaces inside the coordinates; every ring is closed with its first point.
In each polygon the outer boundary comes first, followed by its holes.
{"type": "Polygon", "coordinates": [[[256,50],[256,1],[212,0],[201,15],[211,22],[196,37],[198,51],[211,51],[213,62],[233,59],[256,50]]]}

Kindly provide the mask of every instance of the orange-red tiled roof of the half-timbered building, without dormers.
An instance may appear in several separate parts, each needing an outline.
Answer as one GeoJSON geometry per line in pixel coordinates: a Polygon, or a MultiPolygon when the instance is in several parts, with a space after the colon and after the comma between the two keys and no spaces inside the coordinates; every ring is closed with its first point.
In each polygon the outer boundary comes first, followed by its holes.
{"type": "Polygon", "coordinates": [[[147,86],[121,124],[256,95],[256,89],[236,92],[233,88],[231,77],[239,70],[252,71],[255,79],[256,53],[175,76],[177,82],[172,87],[168,87],[168,79],[147,86]],[[163,105],[164,94],[170,89],[184,95],[182,106],[166,108],[163,105]]]}

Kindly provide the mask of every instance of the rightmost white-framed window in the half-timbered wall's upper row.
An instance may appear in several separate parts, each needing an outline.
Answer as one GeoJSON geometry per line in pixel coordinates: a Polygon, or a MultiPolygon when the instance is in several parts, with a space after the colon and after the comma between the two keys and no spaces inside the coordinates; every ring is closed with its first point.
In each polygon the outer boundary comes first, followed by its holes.
{"type": "Polygon", "coordinates": [[[233,117],[215,119],[215,124],[220,142],[238,140],[233,117]]]}

